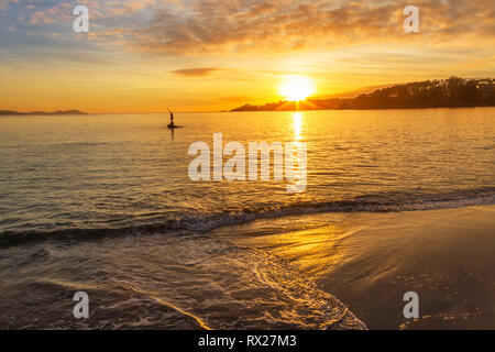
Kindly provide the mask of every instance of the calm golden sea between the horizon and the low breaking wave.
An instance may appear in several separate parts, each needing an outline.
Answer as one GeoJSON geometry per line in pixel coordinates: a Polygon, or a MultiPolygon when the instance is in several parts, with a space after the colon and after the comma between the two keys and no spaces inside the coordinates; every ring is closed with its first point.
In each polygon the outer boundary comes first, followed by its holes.
{"type": "Polygon", "coordinates": [[[178,113],[185,128],[172,133],[164,114],[3,117],[0,232],[141,224],[208,229],[213,220],[244,221],[275,209],[490,202],[494,118],[492,108],[178,113]],[[307,191],[288,194],[286,180],[191,182],[188,146],[195,141],[212,146],[216,132],[223,133],[223,143],[245,146],[307,142],[307,191]]]}

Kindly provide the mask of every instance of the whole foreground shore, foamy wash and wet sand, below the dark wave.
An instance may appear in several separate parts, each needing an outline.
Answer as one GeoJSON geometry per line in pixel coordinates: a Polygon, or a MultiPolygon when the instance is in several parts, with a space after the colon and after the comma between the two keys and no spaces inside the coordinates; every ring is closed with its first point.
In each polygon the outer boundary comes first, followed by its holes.
{"type": "Polygon", "coordinates": [[[67,314],[82,289],[95,307],[86,329],[493,329],[494,215],[324,212],[13,246],[0,263],[0,324],[75,328],[67,314]],[[29,304],[16,295],[26,288],[29,304]],[[407,292],[417,320],[403,316],[407,292]]]}

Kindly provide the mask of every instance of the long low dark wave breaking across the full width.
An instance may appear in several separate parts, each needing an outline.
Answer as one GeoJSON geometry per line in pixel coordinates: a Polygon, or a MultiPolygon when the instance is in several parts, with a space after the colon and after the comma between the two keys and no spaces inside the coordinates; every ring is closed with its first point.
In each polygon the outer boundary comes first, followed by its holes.
{"type": "MultiPolygon", "coordinates": [[[[451,209],[495,205],[495,187],[457,190],[443,194],[381,193],[353,199],[330,201],[297,201],[286,205],[245,207],[237,211],[188,211],[174,218],[148,224],[99,229],[61,229],[55,231],[6,231],[0,233],[0,246],[10,246],[26,240],[96,239],[121,234],[207,232],[220,227],[235,226],[257,219],[322,212],[398,212],[451,209]]],[[[132,219],[130,220],[132,222],[132,219]]]]}

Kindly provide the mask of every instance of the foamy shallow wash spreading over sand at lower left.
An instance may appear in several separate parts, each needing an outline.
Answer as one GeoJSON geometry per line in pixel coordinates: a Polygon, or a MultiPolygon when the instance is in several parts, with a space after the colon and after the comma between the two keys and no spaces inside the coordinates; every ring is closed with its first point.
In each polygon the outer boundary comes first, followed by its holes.
{"type": "Polygon", "coordinates": [[[4,251],[0,273],[9,279],[0,300],[0,326],[366,329],[344,302],[297,265],[263,250],[202,234],[102,242],[36,243],[4,251]],[[32,294],[29,302],[20,290],[32,294]],[[78,290],[90,297],[90,319],[67,315],[78,290]]]}

